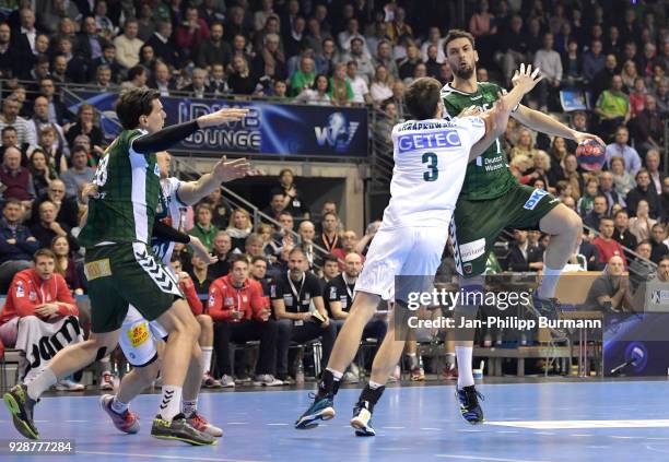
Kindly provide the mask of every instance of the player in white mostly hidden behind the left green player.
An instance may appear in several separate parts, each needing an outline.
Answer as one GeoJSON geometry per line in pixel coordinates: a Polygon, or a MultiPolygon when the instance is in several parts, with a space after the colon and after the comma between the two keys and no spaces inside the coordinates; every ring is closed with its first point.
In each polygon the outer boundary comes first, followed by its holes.
{"type": "MultiPolygon", "coordinates": [[[[163,260],[168,271],[172,271],[171,259],[174,244],[179,241],[188,244],[191,250],[208,263],[214,263],[216,259],[209,254],[207,248],[197,237],[185,235],[177,229],[180,227],[185,209],[218,188],[220,181],[216,182],[214,176],[207,177],[207,175],[198,181],[190,182],[181,182],[174,177],[168,178],[169,154],[161,152],[156,154],[156,157],[161,170],[161,198],[156,209],[156,226],[154,226],[154,236],[151,242],[155,256],[163,260]]],[[[219,163],[219,165],[221,164],[224,164],[224,161],[219,163]]],[[[178,277],[174,273],[173,276],[178,277]]],[[[211,364],[213,323],[208,315],[197,316],[196,319],[200,324],[201,334],[199,345],[196,345],[193,350],[195,357],[190,362],[184,382],[183,413],[196,429],[214,437],[221,437],[223,431],[207,422],[197,412],[202,374],[209,371],[208,365],[211,364]],[[199,354],[200,351],[201,355],[199,354]],[[201,360],[195,360],[200,357],[201,360]]],[[[118,343],[133,369],[124,376],[116,395],[105,394],[99,399],[102,408],[109,415],[116,428],[124,433],[134,434],[139,431],[138,417],[130,411],[128,404],[155,380],[160,370],[160,363],[156,360],[159,348],[161,342],[166,337],[167,333],[159,322],[146,321],[132,305],[129,306],[118,343]]],[[[216,382],[213,383],[213,386],[215,384],[216,382]]]]}

